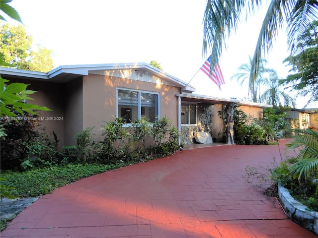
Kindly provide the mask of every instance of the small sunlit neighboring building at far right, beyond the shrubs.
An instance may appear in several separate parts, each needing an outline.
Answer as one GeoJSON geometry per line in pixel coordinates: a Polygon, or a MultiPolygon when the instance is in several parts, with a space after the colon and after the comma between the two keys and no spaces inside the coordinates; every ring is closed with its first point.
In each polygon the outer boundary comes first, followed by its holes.
{"type": "MultiPolygon", "coordinates": [[[[290,125],[288,129],[307,129],[318,130],[318,109],[291,109],[286,118],[290,125]]],[[[290,133],[294,135],[294,132],[290,133]]]]}

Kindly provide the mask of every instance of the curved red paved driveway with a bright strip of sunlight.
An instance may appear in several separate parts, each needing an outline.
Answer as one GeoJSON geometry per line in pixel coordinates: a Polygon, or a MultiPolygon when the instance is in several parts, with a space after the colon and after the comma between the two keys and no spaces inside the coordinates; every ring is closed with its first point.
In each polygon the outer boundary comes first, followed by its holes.
{"type": "Polygon", "coordinates": [[[271,166],[283,144],[185,149],[81,179],[39,198],[1,238],[317,238],[245,167],[271,166]]]}

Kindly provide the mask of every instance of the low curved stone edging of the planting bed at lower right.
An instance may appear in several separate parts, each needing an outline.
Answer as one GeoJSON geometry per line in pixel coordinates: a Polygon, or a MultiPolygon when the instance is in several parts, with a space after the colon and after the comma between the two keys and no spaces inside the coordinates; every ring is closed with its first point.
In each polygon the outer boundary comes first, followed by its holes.
{"type": "Polygon", "coordinates": [[[318,212],[309,211],[307,206],[296,201],[281,184],[278,184],[278,196],[286,215],[293,222],[318,235],[318,212]]]}

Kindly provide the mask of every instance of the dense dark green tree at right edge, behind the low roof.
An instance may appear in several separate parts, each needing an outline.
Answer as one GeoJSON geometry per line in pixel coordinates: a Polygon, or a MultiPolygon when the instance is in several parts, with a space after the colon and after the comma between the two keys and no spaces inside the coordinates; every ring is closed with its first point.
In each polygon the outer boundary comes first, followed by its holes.
{"type": "Polygon", "coordinates": [[[318,21],[314,21],[301,38],[302,43],[297,47],[304,50],[284,60],[292,66],[290,72],[294,74],[288,75],[280,83],[298,91],[298,95],[308,96],[307,106],[318,101],[318,21]]]}

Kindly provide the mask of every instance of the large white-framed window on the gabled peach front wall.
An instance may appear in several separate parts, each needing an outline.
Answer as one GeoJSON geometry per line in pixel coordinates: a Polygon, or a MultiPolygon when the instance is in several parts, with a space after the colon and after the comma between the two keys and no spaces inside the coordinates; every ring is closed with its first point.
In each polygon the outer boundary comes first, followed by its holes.
{"type": "Polygon", "coordinates": [[[117,90],[117,117],[127,123],[146,117],[155,122],[159,116],[159,94],[143,91],[117,90]]]}

